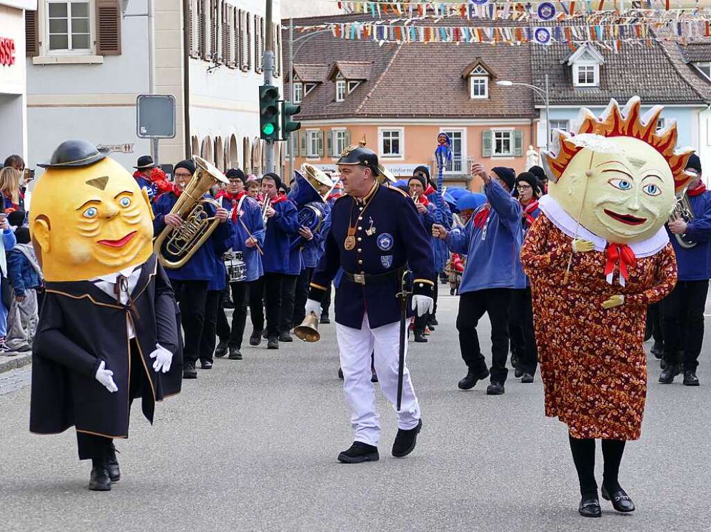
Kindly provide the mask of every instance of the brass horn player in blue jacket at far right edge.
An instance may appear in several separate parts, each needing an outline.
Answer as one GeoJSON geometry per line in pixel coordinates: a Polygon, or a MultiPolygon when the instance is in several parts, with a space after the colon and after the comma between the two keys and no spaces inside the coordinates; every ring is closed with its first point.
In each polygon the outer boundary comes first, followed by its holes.
{"type": "Polygon", "coordinates": [[[696,368],[704,339],[704,308],[711,278],[711,192],[701,180],[701,161],[696,154],[689,158],[686,170],[694,174],[686,195],[693,219],[676,219],[667,224],[676,254],[678,281],[674,290],[662,300],[665,369],[659,382],[670,384],[684,371],[684,385],[698,386],[696,368]],[[681,246],[678,238],[694,242],[681,246]]]}

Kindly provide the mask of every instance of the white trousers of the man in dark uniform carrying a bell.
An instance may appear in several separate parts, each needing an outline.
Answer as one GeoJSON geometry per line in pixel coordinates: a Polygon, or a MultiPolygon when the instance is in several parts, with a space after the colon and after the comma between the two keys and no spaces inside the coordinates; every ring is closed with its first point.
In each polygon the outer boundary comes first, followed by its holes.
{"type": "MultiPolygon", "coordinates": [[[[351,426],[355,441],[378,445],[380,440],[380,416],[375,410],[375,386],[370,382],[370,354],[375,353],[375,371],[383,395],[397,404],[397,363],[400,350],[400,323],[390,323],[371,329],[368,315],[363,317],[360,330],[336,323],[338,350],[343,370],[343,392],[351,406],[351,426]]],[[[407,342],[405,342],[407,355],[407,342]]],[[[405,430],[419,423],[419,403],[415,396],[407,366],[403,373],[402,405],[397,412],[397,426],[405,430]]]]}

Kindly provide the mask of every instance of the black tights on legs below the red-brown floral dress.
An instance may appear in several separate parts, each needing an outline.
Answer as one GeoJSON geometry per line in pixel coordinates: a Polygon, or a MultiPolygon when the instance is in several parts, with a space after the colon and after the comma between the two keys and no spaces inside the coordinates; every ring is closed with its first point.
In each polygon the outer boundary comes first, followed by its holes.
{"type": "MultiPolygon", "coordinates": [[[[587,438],[579,440],[568,435],[570,451],[575,462],[580,481],[580,494],[583,499],[597,498],[597,482],[595,482],[595,440],[587,438]]],[[[602,457],[604,469],[602,484],[608,492],[619,488],[617,475],[619,474],[622,453],[624,453],[625,440],[602,440],[602,457]]]]}

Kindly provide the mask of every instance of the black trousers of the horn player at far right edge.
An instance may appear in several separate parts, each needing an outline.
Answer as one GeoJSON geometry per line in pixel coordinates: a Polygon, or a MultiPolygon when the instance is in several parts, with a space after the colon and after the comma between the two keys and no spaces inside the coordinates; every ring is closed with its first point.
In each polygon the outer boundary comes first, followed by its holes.
{"type": "Polygon", "coordinates": [[[696,371],[704,340],[704,308],[709,281],[678,281],[663,300],[664,359],[696,371]]]}

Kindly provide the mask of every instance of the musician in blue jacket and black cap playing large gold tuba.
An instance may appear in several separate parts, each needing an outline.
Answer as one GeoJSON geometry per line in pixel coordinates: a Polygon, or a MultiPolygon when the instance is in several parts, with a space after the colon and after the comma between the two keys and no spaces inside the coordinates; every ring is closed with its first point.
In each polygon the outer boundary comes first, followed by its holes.
{"type": "MultiPolygon", "coordinates": [[[[191,159],[180,161],[173,167],[176,185],[174,190],[164,192],[153,203],[153,212],[156,216],[153,227],[156,237],[165,229],[166,225],[177,228],[183,224],[183,219],[178,215],[171,214],[171,209],[190,182],[193,173],[195,173],[195,163],[191,159]]],[[[230,225],[225,224],[230,217],[230,212],[222,207],[215,210],[212,205],[205,205],[205,209],[210,215],[214,215],[220,220],[218,228],[210,235],[210,240],[224,241],[230,234],[230,225]]],[[[195,364],[200,357],[208,283],[215,276],[216,260],[214,246],[205,242],[184,266],[176,269],[166,268],[181,310],[181,322],[185,336],[183,379],[198,378],[195,364]]]]}

